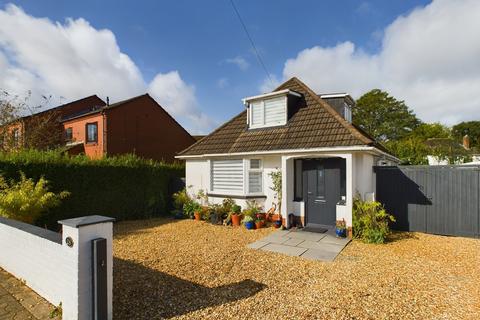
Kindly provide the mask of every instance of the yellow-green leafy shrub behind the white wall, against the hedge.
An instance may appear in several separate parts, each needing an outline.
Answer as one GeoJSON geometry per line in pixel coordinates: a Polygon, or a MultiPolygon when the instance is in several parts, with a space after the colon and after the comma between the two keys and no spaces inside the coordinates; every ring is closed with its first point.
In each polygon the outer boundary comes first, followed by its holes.
{"type": "Polygon", "coordinates": [[[7,182],[0,176],[0,216],[34,223],[42,213],[60,205],[70,195],[67,191],[58,194],[48,191],[45,178],[35,182],[20,172],[20,180],[7,182]]]}

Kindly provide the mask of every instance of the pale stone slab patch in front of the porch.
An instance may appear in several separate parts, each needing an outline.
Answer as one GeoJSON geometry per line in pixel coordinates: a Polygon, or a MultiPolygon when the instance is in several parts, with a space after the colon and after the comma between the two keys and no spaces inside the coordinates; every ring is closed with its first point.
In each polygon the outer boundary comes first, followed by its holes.
{"type": "Polygon", "coordinates": [[[336,237],[334,229],[324,233],[295,229],[278,230],[248,247],[311,260],[333,261],[349,242],[350,239],[336,237]]]}

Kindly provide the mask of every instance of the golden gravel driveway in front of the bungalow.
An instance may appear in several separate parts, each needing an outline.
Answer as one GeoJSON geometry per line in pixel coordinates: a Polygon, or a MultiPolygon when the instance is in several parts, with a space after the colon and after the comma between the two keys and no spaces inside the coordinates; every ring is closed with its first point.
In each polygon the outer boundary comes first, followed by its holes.
{"type": "Polygon", "coordinates": [[[252,250],[273,229],[120,222],[114,319],[479,319],[480,240],[397,233],[334,262],[252,250]]]}

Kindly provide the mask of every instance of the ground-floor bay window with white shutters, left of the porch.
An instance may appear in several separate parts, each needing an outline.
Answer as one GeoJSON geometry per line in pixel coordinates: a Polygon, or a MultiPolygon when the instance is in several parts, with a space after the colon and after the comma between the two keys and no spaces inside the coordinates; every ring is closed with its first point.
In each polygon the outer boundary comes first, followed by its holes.
{"type": "Polygon", "coordinates": [[[260,159],[212,160],[212,192],[245,195],[263,193],[263,168],[260,159]]]}

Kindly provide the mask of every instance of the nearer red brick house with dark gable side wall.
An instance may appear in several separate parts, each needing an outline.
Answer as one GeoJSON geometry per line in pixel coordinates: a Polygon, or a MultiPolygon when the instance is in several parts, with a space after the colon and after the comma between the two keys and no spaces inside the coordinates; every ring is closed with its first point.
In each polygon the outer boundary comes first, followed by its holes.
{"type": "Polygon", "coordinates": [[[70,152],[91,158],[134,153],[173,162],[178,152],[196,142],[148,94],[71,113],[62,123],[70,152]]]}

